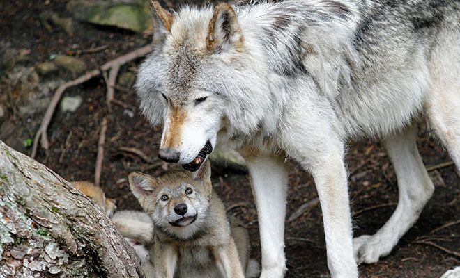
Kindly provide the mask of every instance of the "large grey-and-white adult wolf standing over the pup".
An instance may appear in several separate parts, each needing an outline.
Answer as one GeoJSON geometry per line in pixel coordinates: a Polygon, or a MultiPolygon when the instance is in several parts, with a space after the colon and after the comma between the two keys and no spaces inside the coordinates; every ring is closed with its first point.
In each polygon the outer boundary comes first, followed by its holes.
{"type": "Polygon", "coordinates": [[[243,154],[261,277],[285,270],[287,158],[314,177],[332,277],[358,277],[355,259],[389,254],[431,197],[417,118],[460,167],[459,1],[250,1],[173,14],[153,2],[152,10],[153,52],[136,86],[144,115],[164,123],[159,156],[197,170],[215,146],[243,154]],[[400,201],[375,235],[353,243],[344,152],[348,138],[363,136],[382,138],[400,201]]]}

